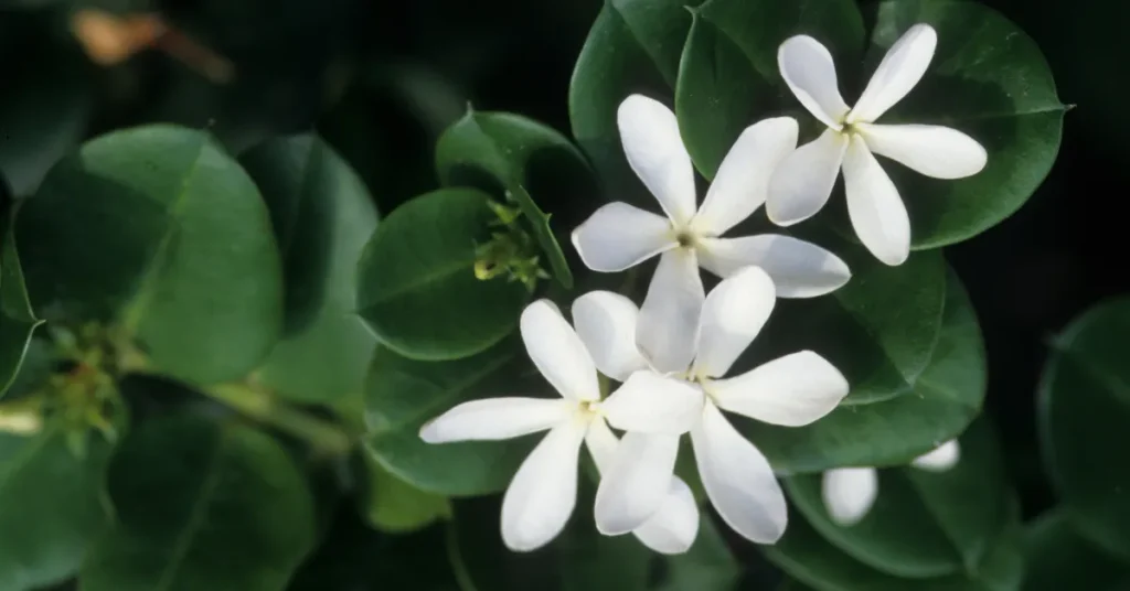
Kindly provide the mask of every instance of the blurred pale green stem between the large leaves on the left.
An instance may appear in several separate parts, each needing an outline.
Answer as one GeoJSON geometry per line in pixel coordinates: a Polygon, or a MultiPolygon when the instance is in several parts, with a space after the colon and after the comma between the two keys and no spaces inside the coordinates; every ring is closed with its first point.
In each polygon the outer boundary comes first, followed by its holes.
{"type": "Polygon", "coordinates": [[[267,423],[289,435],[308,442],[314,447],[334,454],[347,453],[353,447],[349,435],[337,425],[313,417],[285,402],[279,402],[267,392],[246,384],[226,383],[201,389],[214,400],[267,423]]]}

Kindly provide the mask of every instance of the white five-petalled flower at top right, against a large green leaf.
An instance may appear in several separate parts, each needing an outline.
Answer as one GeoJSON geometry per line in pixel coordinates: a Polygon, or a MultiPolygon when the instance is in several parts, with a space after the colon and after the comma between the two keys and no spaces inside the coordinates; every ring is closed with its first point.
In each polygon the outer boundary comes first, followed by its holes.
{"type": "Polygon", "coordinates": [[[875,123],[919,82],[937,44],[938,35],[929,25],[911,27],[887,51],[854,107],[840,96],[835,64],[824,45],[807,35],[781,44],[781,76],[828,129],[776,168],[766,205],[771,220],[790,226],[815,215],[827,202],[842,167],[847,212],[860,242],[886,264],[906,260],[910,218],[875,154],[935,179],[976,174],[988,159],[976,140],[955,129],[875,123]]]}

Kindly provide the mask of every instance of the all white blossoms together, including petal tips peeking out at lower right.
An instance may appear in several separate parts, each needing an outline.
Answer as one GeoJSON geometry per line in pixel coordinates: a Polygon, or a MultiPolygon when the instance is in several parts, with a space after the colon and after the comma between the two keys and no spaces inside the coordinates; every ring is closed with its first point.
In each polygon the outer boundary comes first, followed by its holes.
{"type": "MultiPolygon", "coordinates": [[[[785,41],[777,55],[782,77],[827,131],[798,148],[798,123],[791,118],[750,125],[727,154],[701,207],[675,114],[640,95],[620,104],[617,123],[628,164],[664,215],[612,202],[574,231],[573,245],[589,268],[603,272],[658,255],[643,305],[591,292],[573,302],[571,325],[550,302],[534,302],[522,313],[521,336],[560,399],[467,402],[420,432],[432,443],[547,432],[503,499],[507,547],[532,550],[560,532],[575,505],[584,446],[601,475],[598,530],[632,532],[661,553],[685,551],[698,528],[694,496],[673,475],[685,434],[706,495],[727,524],[759,544],[782,536],[786,506],[773,469],[723,411],[803,426],[835,409],[849,384],[809,350],[727,374],[777,297],[828,294],[846,284],[851,272],[832,252],[784,234],[723,235],[762,205],[779,226],[811,217],[842,170],[860,241],[884,263],[905,261],[907,214],[873,154],[942,179],[974,174],[985,164],[984,149],[958,131],[875,123],[923,76],[936,44],[932,28],[912,27],[849,107],[828,51],[803,35],[785,41]],[[710,294],[699,267],[721,278],[710,294]],[[598,372],[619,383],[608,396],[601,391],[608,382],[598,372]]],[[[942,455],[955,455],[951,446],[944,450],[942,455]]],[[[829,471],[826,480],[831,511],[844,522],[866,513],[877,490],[869,468],[829,471]]]]}

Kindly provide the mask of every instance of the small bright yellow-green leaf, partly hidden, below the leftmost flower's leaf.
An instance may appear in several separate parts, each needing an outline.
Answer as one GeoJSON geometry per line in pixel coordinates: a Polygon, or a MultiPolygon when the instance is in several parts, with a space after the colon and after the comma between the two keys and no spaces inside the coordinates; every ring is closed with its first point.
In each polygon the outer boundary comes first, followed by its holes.
{"type": "Polygon", "coordinates": [[[362,498],[368,523],[386,533],[406,533],[451,516],[447,497],[425,493],[364,454],[367,486],[362,498]]]}

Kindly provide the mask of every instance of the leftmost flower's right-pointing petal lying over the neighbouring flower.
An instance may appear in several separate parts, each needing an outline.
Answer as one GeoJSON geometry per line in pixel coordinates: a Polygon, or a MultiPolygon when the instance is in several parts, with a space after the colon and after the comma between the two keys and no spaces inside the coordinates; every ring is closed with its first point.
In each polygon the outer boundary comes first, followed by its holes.
{"type": "Polygon", "coordinates": [[[601,414],[618,429],[670,435],[690,431],[702,408],[702,389],[651,370],[632,374],[600,405],[601,414]]]}

